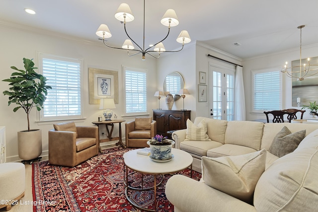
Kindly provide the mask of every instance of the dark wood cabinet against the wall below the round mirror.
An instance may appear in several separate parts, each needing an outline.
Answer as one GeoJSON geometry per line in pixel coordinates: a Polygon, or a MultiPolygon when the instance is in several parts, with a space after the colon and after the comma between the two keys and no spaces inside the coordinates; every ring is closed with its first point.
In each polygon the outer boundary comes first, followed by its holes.
{"type": "Polygon", "coordinates": [[[157,121],[157,134],[168,136],[167,131],[187,128],[191,110],[153,110],[154,120],[157,121]]]}

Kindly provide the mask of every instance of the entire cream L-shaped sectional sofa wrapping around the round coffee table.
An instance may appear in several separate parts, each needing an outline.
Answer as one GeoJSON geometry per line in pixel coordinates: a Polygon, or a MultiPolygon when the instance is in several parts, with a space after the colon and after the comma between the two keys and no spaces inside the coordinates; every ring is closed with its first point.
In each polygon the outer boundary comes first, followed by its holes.
{"type": "MultiPolygon", "coordinates": [[[[166,184],[167,199],[175,212],[274,212],[318,211],[318,125],[259,123],[205,119],[212,141],[184,141],[186,130],[172,134],[175,147],[189,152],[193,169],[201,171],[201,157],[242,155],[266,149],[264,172],[252,194],[251,203],[183,175],[172,176],[166,184]],[[291,153],[277,157],[269,152],[283,126],[292,133],[306,130],[306,137],[291,153]]],[[[224,177],[224,180],[227,180],[224,177]]]]}

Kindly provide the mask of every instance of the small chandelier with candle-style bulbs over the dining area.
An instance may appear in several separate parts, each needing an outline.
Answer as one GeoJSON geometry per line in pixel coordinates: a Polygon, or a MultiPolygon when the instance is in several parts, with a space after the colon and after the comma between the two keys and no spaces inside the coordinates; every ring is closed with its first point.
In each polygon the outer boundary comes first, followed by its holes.
{"type": "Polygon", "coordinates": [[[302,65],[302,28],[305,25],[298,26],[300,29],[300,61],[299,66],[287,67],[287,62],[285,68],[281,71],[286,73],[287,76],[291,78],[297,78],[298,81],[303,81],[305,77],[313,76],[318,73],[318,65],[310,64],[310,58],[307,59],[307,64],[302,65]],[[309,73],[310,72],[310,73],[309,73]]]}

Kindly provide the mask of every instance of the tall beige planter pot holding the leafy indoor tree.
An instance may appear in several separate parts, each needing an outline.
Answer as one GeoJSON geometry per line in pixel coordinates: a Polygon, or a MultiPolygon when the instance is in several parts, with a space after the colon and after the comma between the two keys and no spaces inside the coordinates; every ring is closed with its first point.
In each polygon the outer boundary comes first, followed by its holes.
{"type": "Polygon", "coordinates": [[[32,160],[42,153],[42,130],[18,132],[18,151],[22,160],[32,160]]]}

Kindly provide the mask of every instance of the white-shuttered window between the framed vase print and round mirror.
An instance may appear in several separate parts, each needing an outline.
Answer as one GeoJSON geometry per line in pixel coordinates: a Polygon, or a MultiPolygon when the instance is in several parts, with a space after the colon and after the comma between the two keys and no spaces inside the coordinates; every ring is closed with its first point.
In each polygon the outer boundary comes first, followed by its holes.
{"type": "Polygon", "coordinates": [[[147,112],[147,71],[124,67],[125,115],[141,115],[147,112]]]}

